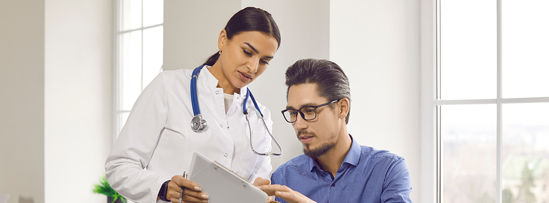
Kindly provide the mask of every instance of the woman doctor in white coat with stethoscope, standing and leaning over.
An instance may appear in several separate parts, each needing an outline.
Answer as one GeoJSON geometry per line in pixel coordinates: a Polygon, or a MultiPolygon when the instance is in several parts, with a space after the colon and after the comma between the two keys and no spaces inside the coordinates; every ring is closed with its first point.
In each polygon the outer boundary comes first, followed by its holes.
{"type": "MultiPolygon", "coordinates": [[[[280,41],[278,26],[265,10],[248,7],[232,16],[219,34],[219,52],[206,60],[196,78],[198,107],[207,121],[198,131],[191,129],[193,70],[156,76],[136,100],[107,157],[111,187],[136,202],[178,202],[184,187],[184,202],[208,202],[200,185],[181,176],[189,171],[195,151],[249,181],[269,179],[271,159],[251,150],[243,103],[247,85],[265,72],[280,41]]],[[[250,113],[249,121],[254,149],[264,153],[271,150],[271,113],[257,105],[268,129],[258,114],[250,113]]],[[[251,99],[245,106],[255,109],[251,99]]]]}

